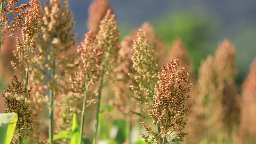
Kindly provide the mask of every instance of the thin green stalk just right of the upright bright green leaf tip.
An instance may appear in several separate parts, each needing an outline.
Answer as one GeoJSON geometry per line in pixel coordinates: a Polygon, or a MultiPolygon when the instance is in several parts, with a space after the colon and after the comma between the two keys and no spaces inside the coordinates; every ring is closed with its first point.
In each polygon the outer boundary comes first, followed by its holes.
{"type": "Polygon", "coordinates": [[[80,127],[80,141],[79,143],[82,144],[82,141],[83,141],[83,132],[84,132],[84,113],[85,113],[85,106],[86,106],[86,95],[87,95],[87,89],[86,89],[86,86],[87,86],[87,79],[88,79],[88,75],[86,75],[86,82],[85,82],[85,85],[84,85],[84,101],[83,101],[83,110],[82,110],[82,118],[81,118],[81,127],[80,127]]]}

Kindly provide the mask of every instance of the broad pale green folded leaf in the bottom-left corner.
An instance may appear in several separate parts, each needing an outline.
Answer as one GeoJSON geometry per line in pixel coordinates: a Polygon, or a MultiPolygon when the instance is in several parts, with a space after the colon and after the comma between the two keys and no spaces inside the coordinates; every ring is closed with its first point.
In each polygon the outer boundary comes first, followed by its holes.
{"type": "Polygon", "coordinates": [[[0,114],[0,143],[11,143],[13,133],[18,121],[16,113],[0,114]]]}

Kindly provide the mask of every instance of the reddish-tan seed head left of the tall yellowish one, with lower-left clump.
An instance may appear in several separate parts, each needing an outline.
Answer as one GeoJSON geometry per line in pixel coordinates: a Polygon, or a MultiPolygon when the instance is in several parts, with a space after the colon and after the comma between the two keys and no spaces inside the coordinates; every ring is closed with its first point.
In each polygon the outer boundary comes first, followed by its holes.
{"type": "Polygon", "coordinates": [[[78,57],[74,61],[76,70],[70,74],[69,81],[75,92],[69,92],[60,98],[60,111],[58,114],[58,130],[71,130],[72,115],[80,113],[83,105],[84,91],[87,93],[86,106],[95,103],[95,94],[92,93],[94,84],[101,75],[101,62],[103,47],[97,46],[96,36],[92,31],[85,35],[85,39],[78,46],[78,57]]]}

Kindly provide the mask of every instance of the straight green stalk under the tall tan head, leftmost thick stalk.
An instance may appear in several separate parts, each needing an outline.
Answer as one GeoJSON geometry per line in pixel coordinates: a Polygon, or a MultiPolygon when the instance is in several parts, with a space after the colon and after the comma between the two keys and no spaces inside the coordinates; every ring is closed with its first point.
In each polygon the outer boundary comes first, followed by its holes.
{"type": "MultiPolygon", "coordinates": [[[[54,75],[55,75],[55,58],[52,61],[52,68],[51,68],[51,79],[53,79],[54,75]]],[[[54,121],[54,117],[53,117],[53,86],[50,89],[50,95],[49,95],[49,143],[53,144],[53,121],[54,121]]]]}

